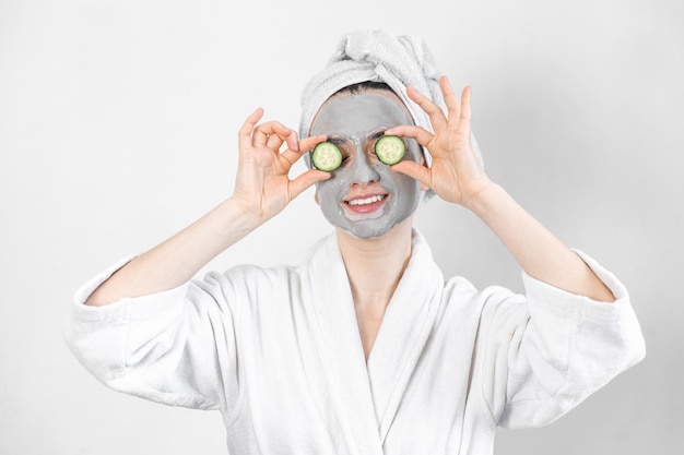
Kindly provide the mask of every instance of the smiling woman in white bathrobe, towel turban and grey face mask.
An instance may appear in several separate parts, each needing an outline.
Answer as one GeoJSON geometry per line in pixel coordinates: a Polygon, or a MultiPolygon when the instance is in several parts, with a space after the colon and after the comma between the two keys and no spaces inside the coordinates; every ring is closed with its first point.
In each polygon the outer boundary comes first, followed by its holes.
{"type": "Polygon", "coordinates": [[[435,77],[415,38],[359,32],[341,49],[305,89],[304,139],[258,109],[233,195],[79,291],[67,336],[83,364],[115,390],[221,410],[231,454],[472,455],[639,361],[623,285],[483,171],[470,88],[435,77]],[[376,153],[386,136],[405,147],[397,164],[376,153]],[[291,179],[323,142],[341,165],[291,179]],[[333,231],[305,261],[192,279],[314,184],[333,231]],[[412,227],[427,192],[502,239],[523,296],[445,279],[412,227]]]}

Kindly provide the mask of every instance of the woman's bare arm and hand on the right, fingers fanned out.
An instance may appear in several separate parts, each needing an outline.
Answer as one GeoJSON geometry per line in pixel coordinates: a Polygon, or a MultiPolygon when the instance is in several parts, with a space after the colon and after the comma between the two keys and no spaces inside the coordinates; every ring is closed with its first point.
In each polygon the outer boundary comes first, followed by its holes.
{"type": "Polygon", "coordinates": [[[413,137],[427,147],[433,155],[432,167],[401,161],[392,170],[415,178],[445,201],[472,211],[502,239],[528,275],[573,294],[614,301],[612,292],[573,250],[485,175],[470,140],[470,87],[463,89],[459,104],[446,76],[439,84],[447,115],[416,91],[408,91],[411,99],[428,113],[434,134],[420,127],[398,127],[386,132],[413,137]]]}

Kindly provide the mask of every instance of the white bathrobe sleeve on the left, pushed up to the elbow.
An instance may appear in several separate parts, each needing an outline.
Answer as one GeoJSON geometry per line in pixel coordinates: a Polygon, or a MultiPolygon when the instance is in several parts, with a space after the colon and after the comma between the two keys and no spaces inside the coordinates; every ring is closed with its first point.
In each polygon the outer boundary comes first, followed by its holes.
{"type": "Polygon", "coordinates": [[[64,337],[105,385],[153,402],[231,409],[237,397],[232,313],[211,277],[104,307],[83,302],[130,259],[75,295],[64,337]]]}

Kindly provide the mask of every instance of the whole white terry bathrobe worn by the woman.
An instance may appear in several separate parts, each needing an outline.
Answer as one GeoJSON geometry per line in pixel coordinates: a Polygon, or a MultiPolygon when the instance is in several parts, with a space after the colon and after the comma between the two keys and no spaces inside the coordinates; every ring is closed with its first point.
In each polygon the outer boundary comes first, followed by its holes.
{"type": "MultiPolygon", "coordinates": [[[[581,253],[580,253],[581,254],[581,253]]],[[[492,454],[497,426],[549,423],[645,354],[623,285],[603,303],[523,274],[526,296],[445,280],[423,237],[366,362],[334,234],[299,266],[238,266],[102,308],[67,340],[109,387],[219,409],[232,455],[492,454]]]]}

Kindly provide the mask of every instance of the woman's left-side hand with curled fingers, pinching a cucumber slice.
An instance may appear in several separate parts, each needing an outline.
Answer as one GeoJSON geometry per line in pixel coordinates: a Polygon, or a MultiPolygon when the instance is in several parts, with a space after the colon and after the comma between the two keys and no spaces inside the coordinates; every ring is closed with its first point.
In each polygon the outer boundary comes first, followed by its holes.
{"type": "Polygon", "coordinates": [[[326,136],[297,141],[297,133],[278,121],[257,124],[263,109],[247,118],[238,133],[239,161],[233,200],[261,224],[281,212],[293,199],[330,173],[310,169],[290,179],[292,166],[326,136]],[[283,144],[286,148],[281,152],[283,144]]]}

